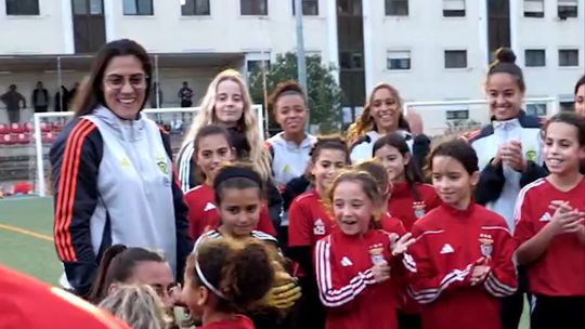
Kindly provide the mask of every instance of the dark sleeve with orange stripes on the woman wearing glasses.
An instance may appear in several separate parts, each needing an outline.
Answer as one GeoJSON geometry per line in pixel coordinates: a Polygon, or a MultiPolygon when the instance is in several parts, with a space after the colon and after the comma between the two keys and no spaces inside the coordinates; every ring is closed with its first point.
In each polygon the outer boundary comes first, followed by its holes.
{"type": "Polygon", "coordinates": [[[98,170],[102,154],[102,136],[95,124],[87,119],[76,119],[67,124],[50,152],[55,249],[67,280],[79,293],[89,289],[98,268],[90,219],[98,205],[98,170]]]}

